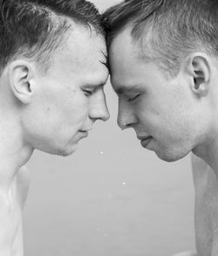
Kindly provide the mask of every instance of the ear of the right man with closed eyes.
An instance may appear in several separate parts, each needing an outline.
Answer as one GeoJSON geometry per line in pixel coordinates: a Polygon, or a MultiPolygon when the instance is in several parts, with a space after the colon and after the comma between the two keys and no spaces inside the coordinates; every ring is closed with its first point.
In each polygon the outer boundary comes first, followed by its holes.
{"type": "Polygon", "coordinates": [[[191,74],[191,90],[198,97],[206,97],[210,89],[210,61],[208,55],[195,52],[188,60],[188,73],[191,74]]]}

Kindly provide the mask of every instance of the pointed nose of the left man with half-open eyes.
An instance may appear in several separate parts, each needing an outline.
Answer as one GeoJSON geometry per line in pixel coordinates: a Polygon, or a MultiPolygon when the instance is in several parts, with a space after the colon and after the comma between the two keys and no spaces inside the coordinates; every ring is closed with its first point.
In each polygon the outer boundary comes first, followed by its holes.
{"type": "Polygon", "coordinates": [[[110,113],[106,106],[106,95],[103,91],[96,94],[97,94],[96,97],[92,99],[90,118],[93,121],[96,121],[96,120],[107,121],[110,118],[110,113]]]}

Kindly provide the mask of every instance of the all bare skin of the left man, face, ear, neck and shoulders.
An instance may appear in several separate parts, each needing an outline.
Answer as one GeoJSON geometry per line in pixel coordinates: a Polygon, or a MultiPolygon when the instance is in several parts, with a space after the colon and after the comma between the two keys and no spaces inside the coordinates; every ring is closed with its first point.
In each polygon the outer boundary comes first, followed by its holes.
{"type": "Polygon", "coordinates": [[[32,59],[13,59],[0,77],[0,255],[23,256],[24,166],[34,149],[69,156],[95,121],[106,121],[106,44],[72,23],[47,73],[32,59]]]}

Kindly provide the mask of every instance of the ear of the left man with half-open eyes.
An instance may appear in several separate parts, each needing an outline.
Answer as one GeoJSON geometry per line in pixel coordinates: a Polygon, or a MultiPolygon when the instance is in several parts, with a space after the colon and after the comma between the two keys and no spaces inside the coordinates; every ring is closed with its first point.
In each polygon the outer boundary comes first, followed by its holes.
{"type": "Polygon", "coordinates": [[[16,60],[10,63],[8,79],[10,89],[15,97],[24,104],[31,101],[33,68],[31,63],[24,60],[16,60]]]}

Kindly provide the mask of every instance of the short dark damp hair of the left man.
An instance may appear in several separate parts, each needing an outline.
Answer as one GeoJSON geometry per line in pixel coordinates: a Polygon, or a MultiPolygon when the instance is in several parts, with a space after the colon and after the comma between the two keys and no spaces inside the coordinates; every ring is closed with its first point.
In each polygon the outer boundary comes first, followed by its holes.
{"type": "Polygon", "coordinates": [[[47,69],[71,27],[69,20],[104,36],[99,10],[88,1],[0,0],[0,71],[20,55],[47,69]]]}

